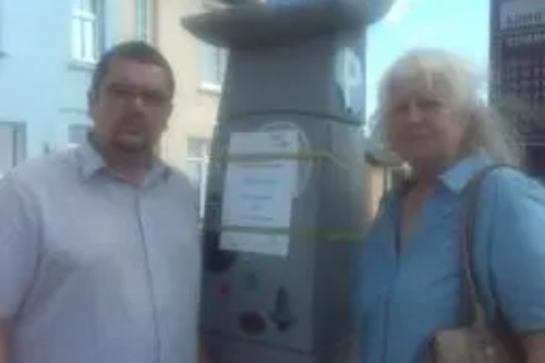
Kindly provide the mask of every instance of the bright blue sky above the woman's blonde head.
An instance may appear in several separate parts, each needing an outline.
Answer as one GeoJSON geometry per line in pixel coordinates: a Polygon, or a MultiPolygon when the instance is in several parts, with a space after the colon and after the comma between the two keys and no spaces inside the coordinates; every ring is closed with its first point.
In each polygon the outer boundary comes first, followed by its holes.
{"type": "Polygon", "coordinates": [[[367,33],[367,114],[389,64],[411,48],[440,47],[463,56],[487,73],[489,0],[397,0],[367,33]]]}

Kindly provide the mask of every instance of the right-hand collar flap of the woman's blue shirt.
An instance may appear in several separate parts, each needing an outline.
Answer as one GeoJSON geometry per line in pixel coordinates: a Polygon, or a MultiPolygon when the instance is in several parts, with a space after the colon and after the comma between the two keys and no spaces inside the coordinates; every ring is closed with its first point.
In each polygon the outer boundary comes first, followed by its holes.
{"type": "Polygon", "coordinates": [[[451,192],[460,193],[479,171],[486,168],[492,162],[493,159],[481,152],[459,160],[443,172],[439,179],[451,192]]]}

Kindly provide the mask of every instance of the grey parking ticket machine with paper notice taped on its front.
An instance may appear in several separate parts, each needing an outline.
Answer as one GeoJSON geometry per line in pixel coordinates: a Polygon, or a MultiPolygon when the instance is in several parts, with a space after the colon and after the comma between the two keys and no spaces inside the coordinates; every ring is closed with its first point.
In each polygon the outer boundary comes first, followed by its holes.
{"type": "Polygon", "coordinates": [[[214,363],[332,363],[365,229],[365,28],[391,1],[247,3],[183,20],[229,49],[204,217],[214,363]]]}

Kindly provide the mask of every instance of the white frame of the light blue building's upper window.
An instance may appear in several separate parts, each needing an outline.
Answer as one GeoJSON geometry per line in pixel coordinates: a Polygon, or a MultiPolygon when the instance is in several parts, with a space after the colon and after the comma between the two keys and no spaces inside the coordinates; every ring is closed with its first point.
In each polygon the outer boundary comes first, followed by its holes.
{"type": "MultiPolygon", "coordinates": [[[[1,1],[1,0],[0,0],[1,1]]],[[[102,0],[72,0],[71,9],[71,59],[77,63],[94,65],[104,49],[104,15],[105,1],[102,0]],[[92,9],[85,9],[84,3],[89,1],[92,9]],[[85,27],[92,27],[92,55],[87,55],[87,33],[85,27]],[[80,45],[76,49],[76,38],[80,45]]]]}

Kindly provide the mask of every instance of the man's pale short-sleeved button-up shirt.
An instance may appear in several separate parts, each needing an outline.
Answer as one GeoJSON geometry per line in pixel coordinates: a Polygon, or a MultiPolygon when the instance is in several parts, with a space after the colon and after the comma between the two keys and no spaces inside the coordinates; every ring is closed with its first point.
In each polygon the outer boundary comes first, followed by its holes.
{"type": "Polygon", "coordinates": [[[196,194],[157,164],[142,186],[89,146],[0,181],[0,318],[13,363],[195,363],[196,194]]]}

